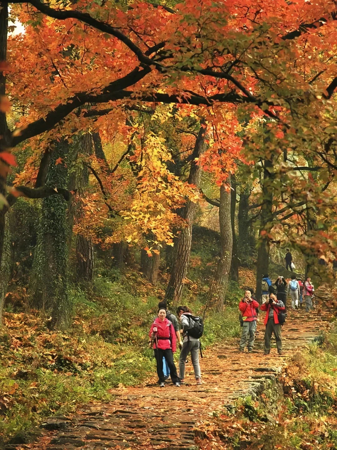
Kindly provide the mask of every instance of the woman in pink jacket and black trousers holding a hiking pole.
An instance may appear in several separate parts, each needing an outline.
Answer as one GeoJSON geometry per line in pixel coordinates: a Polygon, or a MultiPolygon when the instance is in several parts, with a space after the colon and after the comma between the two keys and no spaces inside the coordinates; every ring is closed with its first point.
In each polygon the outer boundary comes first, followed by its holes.
{"type": "Polygon", "coordinates": [[[170,368],[172,383],[179,387],[180,380],[175,363],[173,362],[173,353],[176,351],[177,338],[172,323],[166,318],[166,310],[164,308],[158,310],[158,318],[151,325],[149,337],[151,339],[150,342],[153,342],[154,356],[157,361],[159,386],[165,387],[165,376],[162,370],[164,357],[170,368]]]}

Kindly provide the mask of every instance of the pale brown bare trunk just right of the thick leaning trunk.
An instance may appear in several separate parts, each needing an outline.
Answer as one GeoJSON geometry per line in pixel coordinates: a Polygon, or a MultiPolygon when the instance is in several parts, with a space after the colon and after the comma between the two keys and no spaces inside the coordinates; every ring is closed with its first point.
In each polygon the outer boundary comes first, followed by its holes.
{"type": "Polygon", "coordinates": [[[226,191],[224,185],[220,187],[220,207],[219,207],[219,225],[220,225],[220,258],[215,274],[216,307],[222,311],[225,302],[226,290],[228,285],[229,270],[232,260],[232,222],[231,222],[231,193],[226,191]]]}

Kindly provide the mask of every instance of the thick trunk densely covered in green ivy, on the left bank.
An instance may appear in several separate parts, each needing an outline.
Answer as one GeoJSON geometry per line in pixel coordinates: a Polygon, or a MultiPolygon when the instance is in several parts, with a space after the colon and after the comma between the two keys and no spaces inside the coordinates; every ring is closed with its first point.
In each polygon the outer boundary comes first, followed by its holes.
{"type": "MultiPolygon", "coordinates": [[[[61,140],[56,144],[48,166],[46,185],[67,188],[69,182],[69,144],[61,140]],[[61,157],[61,164],[55,164],[61,157]]],[[[34,255],[33,302],[36,307],[51,315],[51,324],[61,329],[70,325],[71,306],[68,295],[69,259],[69,205],[61,196],[42,200],[37,247],[34,255]]]]}

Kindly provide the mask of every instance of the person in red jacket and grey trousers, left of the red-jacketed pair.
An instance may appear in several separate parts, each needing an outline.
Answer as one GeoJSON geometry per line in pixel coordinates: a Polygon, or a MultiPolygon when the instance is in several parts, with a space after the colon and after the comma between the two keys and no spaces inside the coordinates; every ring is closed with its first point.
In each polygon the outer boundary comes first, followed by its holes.
{"type": "Polygon", "coordinates": [[[256,300],[253,300],[251,298],[251,295],[252,293],[250,291],[246,291],[245,297],[239,303],[239,309],[241,311],[243,320],[242,336],[239,350],[245,351],[245,344],[249,336],[248,353],[251,353],[254,347],[257,319],[256,308],[259,307],[258,302],[256,300]]]}

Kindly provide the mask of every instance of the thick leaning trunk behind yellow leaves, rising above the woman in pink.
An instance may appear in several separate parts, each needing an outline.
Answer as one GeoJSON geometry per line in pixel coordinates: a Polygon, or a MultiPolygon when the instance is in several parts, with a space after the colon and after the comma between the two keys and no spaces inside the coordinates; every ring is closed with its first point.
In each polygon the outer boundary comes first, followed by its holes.
{"type": "MultiPolygon", "coordinates": [[[[202,126],[204,122],[201,122],[201,127],[197,136],[195,147],[192,154],[191,168],[188,177],[188,183],[194,184],[197,188],[200,185],[201,179],[201,167],[195,163],[195,158],[200,157],[206,149],[205,133],[206,129],[202,126]]],[[[171,276],[169,284],[166,288],[165,299],[169,302],[179,302],[181,292],[183,289],[183,280],[186,276],[189,256],[191,253],[192,245],[192,225],[197,209],[197,204],[193,202],[187,202],[182,211],[182,217],[186,220],[186,226],[180,230],[179,237],[175,242],[174,259],[171,268],[171,276]]]]}

